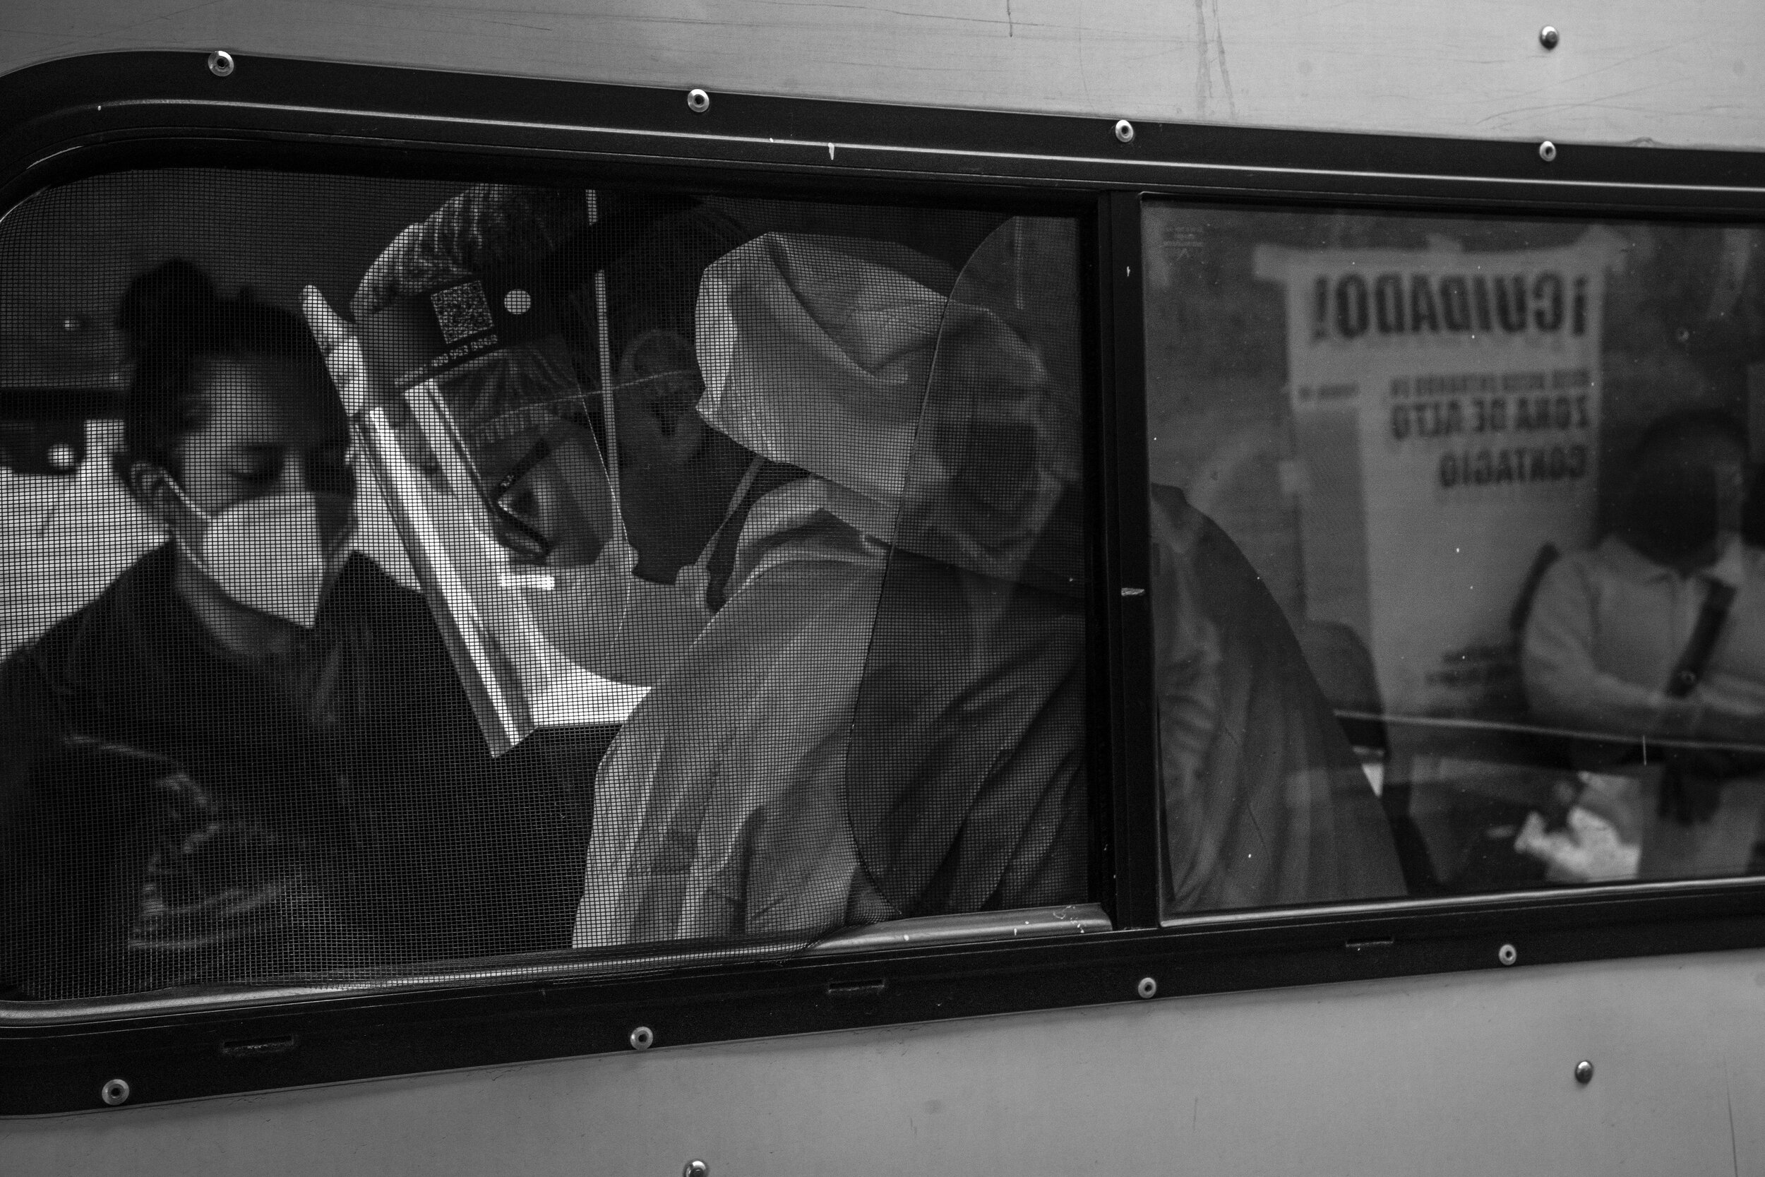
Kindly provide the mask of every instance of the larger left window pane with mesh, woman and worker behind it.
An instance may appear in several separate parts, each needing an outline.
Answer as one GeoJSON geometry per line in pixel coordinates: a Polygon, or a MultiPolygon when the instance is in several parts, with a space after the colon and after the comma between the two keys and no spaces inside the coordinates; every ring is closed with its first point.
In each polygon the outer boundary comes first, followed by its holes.
{"type": "Polygon", "coordinates": [[[1089,900],[1080,236],[203,169],[12,210],[0,995],[1089,900]]]}

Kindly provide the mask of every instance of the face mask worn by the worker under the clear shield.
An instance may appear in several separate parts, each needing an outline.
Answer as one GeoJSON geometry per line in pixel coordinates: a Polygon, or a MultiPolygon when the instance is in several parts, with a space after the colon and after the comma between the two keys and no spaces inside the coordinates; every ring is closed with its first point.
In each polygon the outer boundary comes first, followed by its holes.
{"type": "MultiPolygon", "coordinates": [[[[759,468],[759,459],[748,466],[731,506],[747,496],[759,468]]],[[[637,551],[623,535],[607,542],[591,565],[510,575],[540,632],[567,658],[618,683],[653,686],[711,621],[708,566],[720,533],[672,584],[639,577],[637,551]]]]}

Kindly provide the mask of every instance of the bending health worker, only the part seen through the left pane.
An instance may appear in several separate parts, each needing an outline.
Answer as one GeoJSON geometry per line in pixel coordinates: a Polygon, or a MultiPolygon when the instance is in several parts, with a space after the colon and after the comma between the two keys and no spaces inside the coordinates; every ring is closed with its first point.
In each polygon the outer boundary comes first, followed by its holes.
{"type": "MultiPolygon", "coordinates": [[[[597,773],[575,942],[815,935],[897,914],[1084,898],[1078,547],[1077,531],[1059,544],[1047,526],[1055,505],[1070,517],[1077,503],[1077,385],[1057,386],[995,316],[946,316],[955,274],[898,245],[755,236],[708,206],[660,217],[614,208],[582,194],[473,189],[406,231],[364,279],[358,341],[309,305],[346,399],[353,385],[358,404],[385,402],[408,374],[399,395],[409,415],[447,416],[429,448],[452,457],[431,466],[457,464],[454,485],[475,494],[454,494],[452,515],[424,510],[471,533],[431,531],[475,614],[457,628],[496,651],[538,642],[604,679],[653,683],[597,773]],[[708,302],[701,275],[718,258],[722,286],[704,284],[722,293],[708,302]],[[388,385],[401,362],[376,367],[383,316],[411,305],[429,316],[438,296],[452,304],[448,291],[477,284],[507,323],[496,307],[517,289],[510,272],[528,274],[514,302],[558,307],[556,330],[517,342],[522,328],[510,323],[491,353],[455,367],[438,367],[448,360],[431,348],[429,367],[406,365],[388,385]],[[844,323],[840,334],[821,330],[817,314],[844,323]],[[950,452],[914,454],[946,318],[965,326],[946,348],[946,388],[981,369],[1008,376],[987,411],[1022,439],[997,464],[1011,478],[1029,473],[1022,519],[988,471],[967,469],[962,485],[960,462],[939,473],[987,427],[965,401],[944,411],[943,434],[928,431],[950,452]],[[789,374],[794,402],[768,402],[777,372],[789,374]],[[1038,438],[1038,415],[1070,436],[1043,427],[1038,438]],[[508,425],[521,418],[524,434],[508,425]],[[496,450],[517,434],[512,450],[528,457],[515,469],[531,468],[526,485],[538,487],[519,503],[505,496],[510,473],[496,450]],[[538,439],[552,455],[572,446],[577,461],[533,462],[538,439]],[[604,489],[590,439],[618,471],[604,489]],[[941,494],[951,487],[958,494],[941,494]],[[611,517],[593,506],[602,498],[618,503],[611,517]],[[487,510],[473,515],[468,499],[487,510]],[[946,499],[969,517],[939,517],[946,499]],[[927,515],[909,522],[930,552],[913,559],[943,572],[890,581],[890,540],[909,501],[927,515]],[[519,515],[519,535],[505,512],[519,515]],[[999,515],[994,535],[974,522],[985,512],[999,515]],[[501,545],[501,565],[468,568],[485,536],[501,545]],[[1041,575],[1057,582],[1059,603],[1025,607],[1017,598],[1031,589],[1017,581],[1050,563],[1036,551],[1048,544],[1061,568],[1041,575]],[[898,603],[884,611],[890,600],[898,603]],[[849,762],[861,764],[856,782],[849,762]]],[[[1073,305],[1070,291],[1061,305],[1073,305]]],[[[420,533],[411,528],[408,544],[420,533]]],[[[436,563],[431,554],[413,551],[413,565],[436,563]]],[[[450,591],[432,588],[431,603],[450,591]]],[[[524,658],[508,655],[514,693],[531,695],[542,672],[524,658]]],[[[496,658],[457,662],[462,674],[496,676],[496,658]]]]}

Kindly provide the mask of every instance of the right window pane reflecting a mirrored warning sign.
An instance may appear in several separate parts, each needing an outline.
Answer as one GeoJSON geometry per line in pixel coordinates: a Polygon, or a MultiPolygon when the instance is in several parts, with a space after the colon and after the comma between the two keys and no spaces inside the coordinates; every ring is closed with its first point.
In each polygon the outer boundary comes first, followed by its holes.
{"type": "Polygon", "coordinates": [[[1167,918],[1765,870],[1760,240],[1144,206],[1167,918]]]}

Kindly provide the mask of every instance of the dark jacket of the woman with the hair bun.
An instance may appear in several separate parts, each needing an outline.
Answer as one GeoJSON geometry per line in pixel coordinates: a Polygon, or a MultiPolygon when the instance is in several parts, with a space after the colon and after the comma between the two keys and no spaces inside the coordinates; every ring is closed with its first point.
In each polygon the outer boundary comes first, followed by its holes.
{"type": "Polygon", "coordinates": [[[171,549],[148,552],[0,667],[0,986],[568,944],[574,782],[533,745],[489,757],[418,595],[351,558],[284,685],[221,649],[171,575],[171,549]]]}

